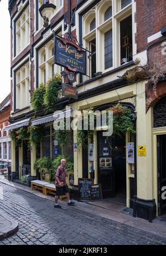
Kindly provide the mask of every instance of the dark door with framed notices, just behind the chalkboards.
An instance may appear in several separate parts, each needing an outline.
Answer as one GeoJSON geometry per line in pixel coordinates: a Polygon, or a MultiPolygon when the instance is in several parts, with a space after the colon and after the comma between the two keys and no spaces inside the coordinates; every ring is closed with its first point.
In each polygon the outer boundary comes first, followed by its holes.
{"type": "Polygon", "coordinates": [[[103,198],[115,197],[111,140],[111,137],[104,137],[102,132],[97,133],[98,183],[101,183],[103,198]]]}

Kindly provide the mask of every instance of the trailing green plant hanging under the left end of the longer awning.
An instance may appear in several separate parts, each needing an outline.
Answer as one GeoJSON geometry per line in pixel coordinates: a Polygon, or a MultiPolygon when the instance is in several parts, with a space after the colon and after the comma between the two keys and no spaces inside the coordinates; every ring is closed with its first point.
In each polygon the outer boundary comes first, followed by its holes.
{"type": "Polygon", "coordinates": [[[29,136],[29,143],[38,144],[41,142],[41,139],[44,134],[44,127],[42,125],[39,126],[29,126],[28,127],[30,136],[29,136]]]}

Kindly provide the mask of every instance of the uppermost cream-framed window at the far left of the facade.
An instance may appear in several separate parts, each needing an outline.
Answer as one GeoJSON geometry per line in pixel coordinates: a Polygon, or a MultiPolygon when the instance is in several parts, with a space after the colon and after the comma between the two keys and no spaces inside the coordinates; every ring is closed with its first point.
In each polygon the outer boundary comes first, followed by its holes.
{"type": "Polygon", "coordinates": [[[15,22],[15,51],[14,56],[18,55],[30,42],[30,18],[29,6],[15,22]]]}

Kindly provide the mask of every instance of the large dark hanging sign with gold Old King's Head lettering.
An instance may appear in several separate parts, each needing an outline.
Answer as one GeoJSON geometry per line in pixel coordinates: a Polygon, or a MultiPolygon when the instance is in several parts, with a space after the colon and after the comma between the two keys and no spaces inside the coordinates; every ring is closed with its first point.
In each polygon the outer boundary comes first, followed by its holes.
{"type": "Polygon", "coordinates": [[[76,38],[54,37],[54,63],[69,71],[86,74],[86,51],[77,44],[76,38]]]}

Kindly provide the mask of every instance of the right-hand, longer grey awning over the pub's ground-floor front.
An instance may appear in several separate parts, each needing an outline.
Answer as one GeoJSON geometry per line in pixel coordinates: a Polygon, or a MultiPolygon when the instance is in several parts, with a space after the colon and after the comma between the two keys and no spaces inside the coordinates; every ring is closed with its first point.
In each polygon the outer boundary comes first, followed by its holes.
{"type": "Polygon", "coordinates": [[[45,117],[40,117],[32,121],[31,126],[38,126],[39,124],[44,124],[44,123],[50,123],[56,120],[60,120],[63,118],[69,118],[72,113],[72,108],[68,109],[67,111],[55,111],[53,114],[45,116],[45,117]]]}

